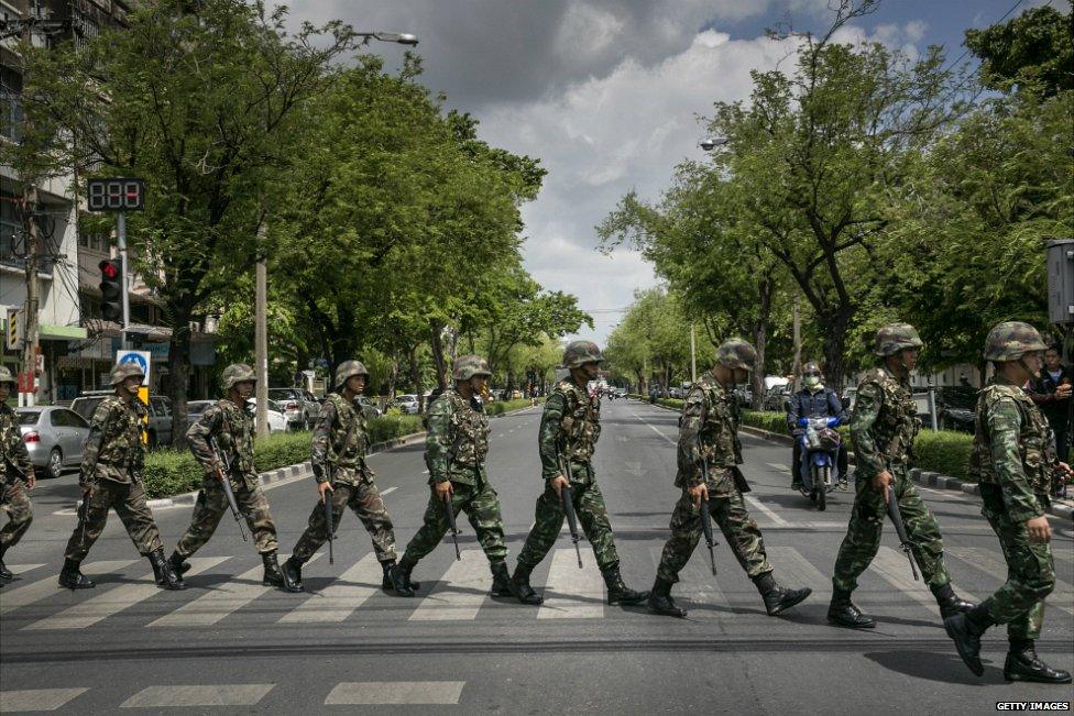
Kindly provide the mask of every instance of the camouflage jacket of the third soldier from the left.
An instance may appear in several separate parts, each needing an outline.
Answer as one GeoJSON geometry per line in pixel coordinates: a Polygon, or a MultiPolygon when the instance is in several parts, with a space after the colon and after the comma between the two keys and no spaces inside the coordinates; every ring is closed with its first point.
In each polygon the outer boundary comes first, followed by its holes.
{"type": "Polygon", "coordinates": [[[206,408],[186,431],[187,445],[207,477],[215,476],[217,467],[223,467],[209,444],[210,440],[227,455],[231,464],[229,477],[257,481],[253,466],[253,417],[249,412],[228,398],[221,398],[206,408]]]}

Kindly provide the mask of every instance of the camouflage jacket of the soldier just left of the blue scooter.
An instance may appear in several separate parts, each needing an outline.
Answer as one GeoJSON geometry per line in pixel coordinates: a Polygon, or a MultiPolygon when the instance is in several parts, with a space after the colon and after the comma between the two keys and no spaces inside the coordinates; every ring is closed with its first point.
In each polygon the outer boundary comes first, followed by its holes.
{"type": "Polygon", "coordinates": [[[734,491],[731,469],[742,463],[739,420],[738,397],[711,373],[699,377],[687,394],[679,419],[677,487],[701,484],[703,458],[709,466],[709,492],[728,495],[734,491]]]}

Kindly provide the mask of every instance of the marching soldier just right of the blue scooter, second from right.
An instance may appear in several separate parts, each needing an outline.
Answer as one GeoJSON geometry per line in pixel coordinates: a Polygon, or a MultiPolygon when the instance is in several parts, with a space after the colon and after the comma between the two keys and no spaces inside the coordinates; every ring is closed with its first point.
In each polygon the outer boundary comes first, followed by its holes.
{"type": "Polygon", "coordinates": [[[851,439],[857,455],[856,494],[846,537],[835,560],[828,608],[828,620],[841,627],[876,626],[874,617],[854,606],[851,593],[880,547],[888,486],[899,500],[913,557],[940,605],[941,616],[947,618],[973,606],[951,588],[940,526],[910,480],[911,450],[921,425],[910,395],[910,371],[918,363],[922,345],[912,326],[885,326],[876,332],[876,355],[881,363],[866,374],[857,388],[851,418],[851,439]]]}

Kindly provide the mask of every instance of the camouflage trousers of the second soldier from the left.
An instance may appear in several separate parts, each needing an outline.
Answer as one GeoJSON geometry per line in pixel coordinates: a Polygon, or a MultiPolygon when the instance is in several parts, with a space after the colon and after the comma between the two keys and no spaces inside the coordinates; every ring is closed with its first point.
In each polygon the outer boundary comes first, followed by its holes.
{"type": "Polygon", "coordinates": [[[163,549],[161,532],[153,521],[153,513],[145,504],[145,489],[140,481],[118,483],[111,480],[98,480],[89,498],[89,510],[85,517],[79,517],[75,531],[67,541],[64,557],[75,562],[81,562],[89,553],[97,538],[105,530],[108,521],[108,510],[113,508],[120,521],[127,528],[127,533],[134,542],[134,549],[140,554],[150,554],[163,549]],[[85,521],[85,537],[83,522],[85,521]]]}

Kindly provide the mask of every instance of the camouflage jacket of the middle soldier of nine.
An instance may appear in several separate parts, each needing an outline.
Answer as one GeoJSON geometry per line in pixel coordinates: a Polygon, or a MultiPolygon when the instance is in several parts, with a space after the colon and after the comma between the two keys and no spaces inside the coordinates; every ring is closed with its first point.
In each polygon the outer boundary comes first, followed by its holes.
{"type": "Polygon", "coordinates": [[[425,461],[429,484],[451,481],[476,485],[489,454],[489,418],[478,398],[448,388],[428,410],[425,461]]]}

